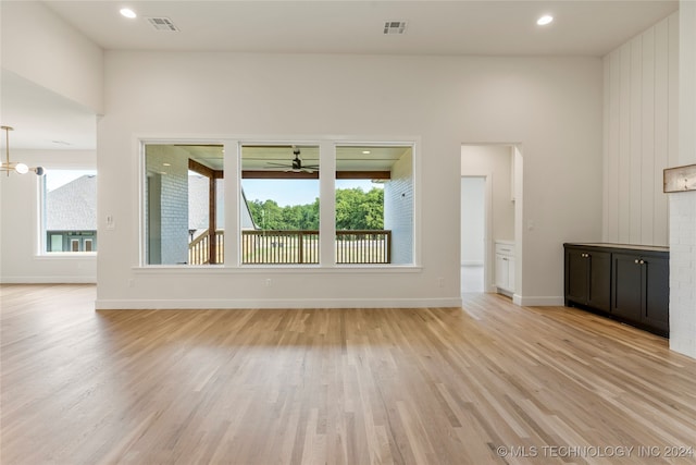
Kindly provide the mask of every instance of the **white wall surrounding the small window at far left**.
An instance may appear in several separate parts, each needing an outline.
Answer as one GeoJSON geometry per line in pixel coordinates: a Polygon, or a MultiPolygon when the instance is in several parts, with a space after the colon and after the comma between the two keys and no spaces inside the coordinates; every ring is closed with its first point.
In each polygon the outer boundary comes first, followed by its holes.
{"type": "MultiPolygon", "coordinates": [[[[12,150],[12,158],[46,169],[95,169],[97,164],[96,152],[91,150],[12,150]]],[[[97,282],[94,255],[38,254],[40,180],[32,172],[0,176],[0,282],[97,282]]]]}

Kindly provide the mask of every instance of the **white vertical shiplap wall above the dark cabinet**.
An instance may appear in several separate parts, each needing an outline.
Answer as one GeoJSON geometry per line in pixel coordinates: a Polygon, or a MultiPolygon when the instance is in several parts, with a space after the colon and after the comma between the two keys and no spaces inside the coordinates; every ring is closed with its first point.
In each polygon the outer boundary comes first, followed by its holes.
{"type": "Polygon", "coordinates": [[[604,241],[668,245],[662,170],[679,158],[679,13],[607,54],[604,74],[604,241]]]}

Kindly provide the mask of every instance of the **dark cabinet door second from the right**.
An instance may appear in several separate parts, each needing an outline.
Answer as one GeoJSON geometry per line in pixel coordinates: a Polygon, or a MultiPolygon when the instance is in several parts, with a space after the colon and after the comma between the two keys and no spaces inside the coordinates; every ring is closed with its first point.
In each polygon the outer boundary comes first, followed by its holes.
{"type": "Polygon", "coordinates": [[[613,254],[611,313],[639,322],[642,314],[641,260],[635,255],[613,254]]]}

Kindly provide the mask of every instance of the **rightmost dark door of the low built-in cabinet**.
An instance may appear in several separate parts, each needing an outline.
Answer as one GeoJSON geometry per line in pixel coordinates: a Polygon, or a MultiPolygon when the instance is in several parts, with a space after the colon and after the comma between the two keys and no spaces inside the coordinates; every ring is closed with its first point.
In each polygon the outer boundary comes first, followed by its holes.
{"type": "Polygon", "coordinates": [[[643,259],[645,301],[641,322],[664,333],[670,329],[670,266],[659,257],[643,259]]]}

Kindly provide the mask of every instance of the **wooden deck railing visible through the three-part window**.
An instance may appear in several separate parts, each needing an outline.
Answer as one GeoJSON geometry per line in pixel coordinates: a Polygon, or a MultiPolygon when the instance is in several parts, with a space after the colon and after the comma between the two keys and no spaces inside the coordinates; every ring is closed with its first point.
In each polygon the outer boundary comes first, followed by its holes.
{"type": "MultiPolygon", "coordinates": [[[[210,264],[207,233],[189,244],[189,264],[210,264]]],[[[224,257],[224,231],[215,234],[214,262],[224,257]]],[[[244,265],[319,264],[319,231],[241,231],[244,265]]],[[[336,262],[343,265],[390,264],[391,231],[336,231],[336,262]]]]}

